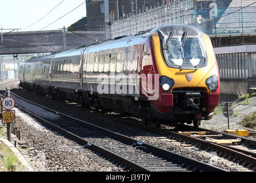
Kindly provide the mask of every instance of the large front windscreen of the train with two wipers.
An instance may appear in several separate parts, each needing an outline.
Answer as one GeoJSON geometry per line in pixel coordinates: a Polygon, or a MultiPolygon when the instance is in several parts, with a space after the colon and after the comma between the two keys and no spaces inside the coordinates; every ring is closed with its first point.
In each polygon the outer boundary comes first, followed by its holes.
{"type": "Polygon", "coordinates": [[[167,34],[161,31],[164,35],[161,40],[162,50],[169,67],[198,69],[206,66],[207,56],[202,35],[189,31],[190,29],[172,29],[167,34]]]}

